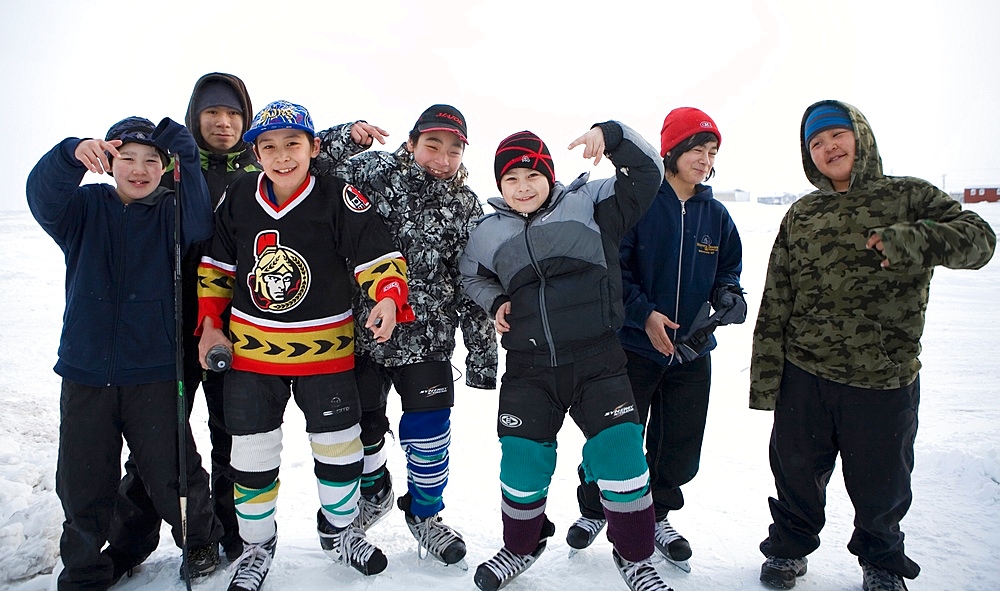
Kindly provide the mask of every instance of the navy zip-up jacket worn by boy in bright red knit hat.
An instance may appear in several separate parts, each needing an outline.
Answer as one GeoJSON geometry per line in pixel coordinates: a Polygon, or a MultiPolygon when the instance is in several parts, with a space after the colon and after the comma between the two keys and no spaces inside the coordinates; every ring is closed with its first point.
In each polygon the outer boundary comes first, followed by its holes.
{"type": "MultiPolygon", "coordinates": [[[[743,244],[711,187],[698,185],[693,197],[681,201],[663,181],[649,211],[622,239],[620,257],[625,291],[625,324],[618,331],[622,347],[668,365],[679,360],[649,342],[649,314],[656,310],[680,324],[667,331],[677,342],[715,287],[740,284],[743,244]]],[[[710,341],[703,354],[715,348],[714,335],[710,341]]]]}

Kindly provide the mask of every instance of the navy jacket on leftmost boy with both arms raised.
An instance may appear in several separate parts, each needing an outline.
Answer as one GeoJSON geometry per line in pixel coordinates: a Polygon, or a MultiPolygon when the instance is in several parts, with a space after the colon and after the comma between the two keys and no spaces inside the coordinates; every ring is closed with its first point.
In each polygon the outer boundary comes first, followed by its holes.
{"type": "MultiPolygon", "coordinates": [[[[169,121],[169,120],[165,120],[169,121]]],[[[173,121],[154,142],[181,158],[181,242],[212,235],[212,208],[194,139],[173,121]]],[[[28,176],[28,206],[66,257],[66,310],[55,372],[90,386],[175,378],[174,194],[157,187],[124,205],[107,184],[80,186],[86,168],[67,138],[28,176]]]]}

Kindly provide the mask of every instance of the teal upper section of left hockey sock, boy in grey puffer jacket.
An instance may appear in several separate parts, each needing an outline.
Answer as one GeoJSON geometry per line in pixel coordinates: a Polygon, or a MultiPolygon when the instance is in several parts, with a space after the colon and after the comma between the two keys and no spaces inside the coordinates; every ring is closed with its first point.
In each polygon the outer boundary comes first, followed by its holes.
{"type": "Polygon", "coordinates": [[[501,437],[500,488],[515,503],[527,504],[549,494],[556,469],[555,441],[544,443],[523,437],[501,437]]]}

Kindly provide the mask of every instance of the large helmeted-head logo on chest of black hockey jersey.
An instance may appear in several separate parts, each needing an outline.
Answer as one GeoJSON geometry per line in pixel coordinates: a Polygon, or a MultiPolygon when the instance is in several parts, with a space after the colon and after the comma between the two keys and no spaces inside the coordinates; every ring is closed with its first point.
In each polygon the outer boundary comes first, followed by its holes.
{"type": "Polygon", "coordinates": [[[280,314],[301,304],[312,283],[305,259],[282,246],[274,230],[257,234],[255,244],[256,264],[247,276],[254,305],[262,312],[280,314]]]}

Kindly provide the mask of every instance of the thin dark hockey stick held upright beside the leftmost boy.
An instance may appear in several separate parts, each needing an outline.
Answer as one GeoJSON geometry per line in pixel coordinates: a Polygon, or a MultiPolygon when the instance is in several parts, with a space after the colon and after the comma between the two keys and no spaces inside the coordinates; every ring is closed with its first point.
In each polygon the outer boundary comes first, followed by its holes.
{"type": "Polygon", "coordinates": [[[177,493],[181,503],[181,572],[184,584],[191,591],[191,569],[188,566],[187,545],[187,400],[184,396],[184,326],[181,319],[181,160],[174,154],[174,367],[177,377],[177,493]]]}

